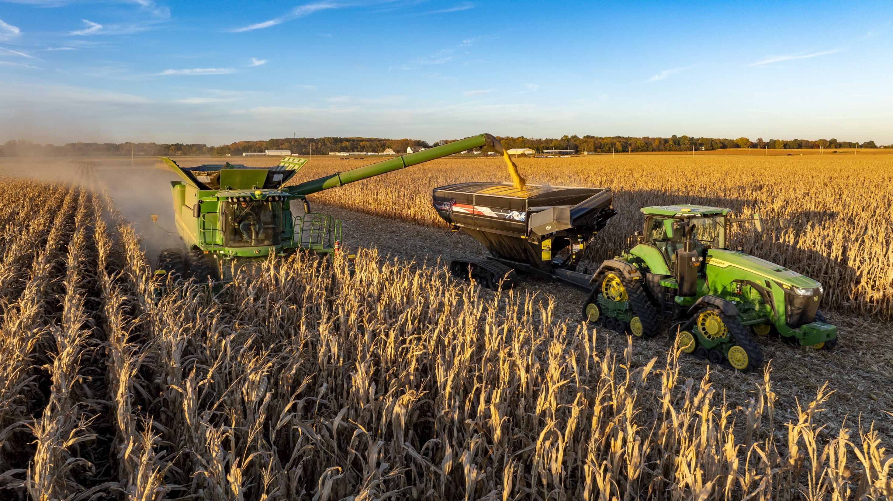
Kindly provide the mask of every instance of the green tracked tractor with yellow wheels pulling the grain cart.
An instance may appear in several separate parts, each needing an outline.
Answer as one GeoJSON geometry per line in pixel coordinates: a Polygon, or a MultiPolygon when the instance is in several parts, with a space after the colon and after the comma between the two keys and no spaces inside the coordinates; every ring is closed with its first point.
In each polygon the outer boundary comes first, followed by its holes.
{"type": "Polygon", "coordinates": [[[837,327],[819,311],[822,283],[727,247],[732,224],[752,221],[762,232],[759,215],[731,218],[730,209],[702,205],[641,210],[638,244],[593,275],[586,320],[651,338],[672,318],[684,353],[741,371],[763,364],[751,333],[774,331],[814,349],[837,344],[837,327]]]}

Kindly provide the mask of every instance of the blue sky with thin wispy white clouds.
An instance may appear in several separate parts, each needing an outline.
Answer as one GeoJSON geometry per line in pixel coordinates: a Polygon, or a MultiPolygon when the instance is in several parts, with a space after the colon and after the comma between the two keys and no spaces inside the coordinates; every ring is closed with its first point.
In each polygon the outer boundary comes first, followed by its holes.
{"type": "Polygon", "coordinates": [[[0,142],[893,143],[893,4],[0,0],[0,142]]]}

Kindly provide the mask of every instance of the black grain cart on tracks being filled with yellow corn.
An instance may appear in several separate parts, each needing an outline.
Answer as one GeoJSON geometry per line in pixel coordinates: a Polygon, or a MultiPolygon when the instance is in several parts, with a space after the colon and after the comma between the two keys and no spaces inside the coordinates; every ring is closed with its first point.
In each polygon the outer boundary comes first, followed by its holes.
{"type": "Polygon", "coordinates": [[[616,212],[607,188],[461,183],[432,194],[441,218],[481,242],[488,259],[456,259],[455,275],[497,288],[512,270],[547,276],[588,289],[589,276],[576,273],[580,256],[616,212]]]}

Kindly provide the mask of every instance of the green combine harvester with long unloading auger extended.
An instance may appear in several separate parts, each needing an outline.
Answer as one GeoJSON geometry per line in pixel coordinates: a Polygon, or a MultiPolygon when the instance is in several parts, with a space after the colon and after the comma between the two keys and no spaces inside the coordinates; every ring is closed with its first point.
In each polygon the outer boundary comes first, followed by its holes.
{"type": "Polygon", "coordinates": [[[308,195],[485,145],[503,151],[495,137],[482,134],[292,186],[285,184],[307,160],[286,157],[263,168],[229,162],[180,167],[162,158],[181,179],[171,181],[171,193],[185,249],[163,250],[156,273],[217,280],[233,260],[297,250],[330,254],[341,242],[340,221],[311,212],[308,195]],[[305,213],[293,214],[291,201],[303,201],[305,213]]]}

